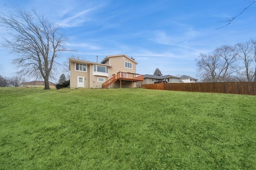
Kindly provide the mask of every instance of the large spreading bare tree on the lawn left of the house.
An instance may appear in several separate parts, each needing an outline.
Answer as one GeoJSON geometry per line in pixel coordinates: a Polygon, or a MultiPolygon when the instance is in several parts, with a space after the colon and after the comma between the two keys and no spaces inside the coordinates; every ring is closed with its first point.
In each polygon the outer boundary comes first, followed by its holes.
{"type": "Polygon", "coordinates": [[[58,34],[58,27],[54,26],[43,15],[35,10],[27,12],[15,8],[12,12],[2,12],[0,24],[9,31],[12,40],[3,44],[13,53],[19,55],[13,60],[20,69],[18,74],[44,79],[44,89],[50,89],[49,78],[57,71],[56,62],[64,48],[66,38],[58,34]]]}

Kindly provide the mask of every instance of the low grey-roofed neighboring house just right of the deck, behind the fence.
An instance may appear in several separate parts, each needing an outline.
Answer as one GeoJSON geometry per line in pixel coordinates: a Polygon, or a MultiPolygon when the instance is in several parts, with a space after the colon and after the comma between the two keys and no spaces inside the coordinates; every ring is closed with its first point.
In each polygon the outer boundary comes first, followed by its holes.
{"type": "Polygon", "coordinates": [[[176,77],[173,75],[163,75],[163,76],[157,76],[157,75],[144,75],[144,81],[142,84],[154,84],[158,82],[167,82],[167,83],[180,83],[180,77],[176,77]]]}

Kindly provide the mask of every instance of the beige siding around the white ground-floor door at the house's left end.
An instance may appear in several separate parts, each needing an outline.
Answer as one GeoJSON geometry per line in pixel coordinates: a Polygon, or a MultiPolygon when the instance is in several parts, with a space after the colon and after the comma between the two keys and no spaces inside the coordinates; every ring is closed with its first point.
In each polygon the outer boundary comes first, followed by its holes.
{"type": "MultiPolygon", "coordinates": [[[[84,64],[84,63],[80,63],[84,64]]],[[[84,88],[89,88],[89,74],[90,74],[90,65],[86,64],[86,72],[85,71],[77,71],[75,69],[76,65],[74,62],[70,64],[70,88],[77,88],[77,77],[84,77],[84,88]]]]}

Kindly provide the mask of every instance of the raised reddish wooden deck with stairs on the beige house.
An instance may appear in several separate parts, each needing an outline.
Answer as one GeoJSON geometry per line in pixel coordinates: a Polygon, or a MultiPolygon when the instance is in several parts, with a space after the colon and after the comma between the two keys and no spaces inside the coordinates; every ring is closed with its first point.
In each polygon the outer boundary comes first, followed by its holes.
{"type": "Polygon", "coordinates": [[[125,72],[118,72],[117,74],[113,74],[112,78],[108,79],[102,84],[102,88],[106,89],[110,85],[112,85],[114,82],[120,80],[120,88],[122,88],[122,80],[124,81],[131,81],[137,82],[137,81],[143,81],[144,75],[135,74],[135,73],[125,73],[125,72]]]}

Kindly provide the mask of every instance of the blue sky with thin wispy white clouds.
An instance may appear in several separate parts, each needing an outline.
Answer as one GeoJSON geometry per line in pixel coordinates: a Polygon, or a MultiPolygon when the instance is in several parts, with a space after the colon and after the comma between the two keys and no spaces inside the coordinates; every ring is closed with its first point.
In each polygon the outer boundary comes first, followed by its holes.
{"type": "MultiPolygon", "coordinates": [[[[0,0],[0,10],[12,6],[34,8],[69,39],[58,62],[71,55],[102,61],[106,55],[135,58],[139,74],[197,77],[195,58],[221,45],[234,45],[256,38],[256,2],[230,25],[253,0],[0,0]]],[[[5,36],[0,28],[0,42],[5,36]]],[[[0,75],[15,75],[15,56],[0,47],[0,75]]],[[[60,69],[61,73],[61,69],[60,69]]],[[[58,80],[59,75],[56,75],[58,80]]]]}

